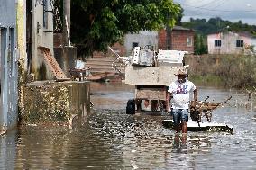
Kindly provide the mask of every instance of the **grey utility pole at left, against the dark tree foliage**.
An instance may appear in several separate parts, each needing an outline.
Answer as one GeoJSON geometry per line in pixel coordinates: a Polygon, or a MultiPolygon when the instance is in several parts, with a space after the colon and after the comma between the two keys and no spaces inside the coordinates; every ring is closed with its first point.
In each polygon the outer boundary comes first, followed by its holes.
{"type": "Polygon", "coordinates": [[[63,45],[70,46],[70,2],[63,0],[63,45]]]}

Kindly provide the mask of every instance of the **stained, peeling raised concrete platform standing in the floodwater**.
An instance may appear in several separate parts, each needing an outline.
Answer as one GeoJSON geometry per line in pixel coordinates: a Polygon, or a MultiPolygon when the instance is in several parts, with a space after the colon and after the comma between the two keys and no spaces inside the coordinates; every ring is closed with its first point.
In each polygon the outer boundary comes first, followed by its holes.
{"type": "Polygon", "coordinates": [[[89,82],[33,82],[23,85],[22,97],[24,124],[68,124],[90,113],[89,82]]]}

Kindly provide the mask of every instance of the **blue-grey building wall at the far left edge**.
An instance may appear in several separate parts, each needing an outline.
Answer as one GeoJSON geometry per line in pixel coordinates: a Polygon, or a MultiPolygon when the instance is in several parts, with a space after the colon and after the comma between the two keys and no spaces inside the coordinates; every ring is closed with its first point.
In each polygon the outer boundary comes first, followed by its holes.
{"type": "Polygon", "coordinates": [[[0,0],[0,133],[17,124],[18,57],[16,0],[0,0]]]}

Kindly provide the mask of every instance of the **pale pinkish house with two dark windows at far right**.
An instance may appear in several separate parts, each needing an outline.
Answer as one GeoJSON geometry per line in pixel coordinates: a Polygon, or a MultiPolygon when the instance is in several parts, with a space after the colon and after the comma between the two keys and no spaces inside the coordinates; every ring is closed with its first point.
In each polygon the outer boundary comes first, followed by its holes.
{"type": "Polygon", "coordinates": [[[248,33],[232,31],[207,35],[209,54],[247,54],[256,45],[256,38],[248,33]]]}

